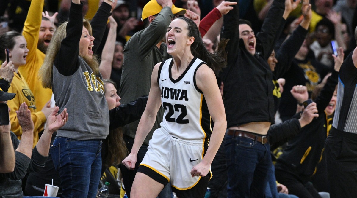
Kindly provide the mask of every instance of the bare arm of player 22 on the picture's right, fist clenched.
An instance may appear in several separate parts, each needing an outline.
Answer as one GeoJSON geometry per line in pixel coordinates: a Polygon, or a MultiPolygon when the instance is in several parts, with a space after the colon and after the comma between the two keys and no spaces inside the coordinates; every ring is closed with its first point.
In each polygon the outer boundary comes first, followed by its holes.
{"type": "Polygon", "coordinates": [[[207,65],[202,65],[196,73],[196,83],[205,96],[208,111],[215,125],[213,126],[210,145],[202,161],[193,166],[191,175],[206,176],[210,170],[211,163],[215,157],[218,148],[221,146],[225,131],[227,129],[226,113],[223,106],[221,92],[218,88],[215,79],[215,73],[208,68],[207,65]]]}

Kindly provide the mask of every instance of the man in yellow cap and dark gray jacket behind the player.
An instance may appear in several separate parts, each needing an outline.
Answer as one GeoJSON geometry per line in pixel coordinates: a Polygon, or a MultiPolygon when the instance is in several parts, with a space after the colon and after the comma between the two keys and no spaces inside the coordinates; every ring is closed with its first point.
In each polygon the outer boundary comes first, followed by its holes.
{"type": "MultiPolygon", "coordinates": [[[[172,5],[171,0],[151,0],[144,6],[142,20],[145,29],[136,32],[124,47],[124,63],[120,85],[120,102],[122,104],[134,101],[140,96],[149,95],[152,69],[155,64],[168,58],[167,46],[162,43],[167,27],[170,25],[174,15],[183,15],[185,13],[185,9],[177,8],[172,5]]],[[[157,113],[154,127],[147,135],[144,144],[139,150],[135,165],[136,168],[134,170],[128,170],[125,166],[120,168],[128,197],[130,197],[130,190],[137,167],[144,158],[152,133],[155,129],[160,127],[163,115],[164,111],[160,109],[157,113]]],[[[138,124],[139,121],[124,127],[124,140],[129,152],[134,143],[138,124]]],[[[167,187],[165,187],[163,191],[165,191],[166,188],[167,187]]],[[[170,197],[170,195],[164,197],[170,197]]]]}

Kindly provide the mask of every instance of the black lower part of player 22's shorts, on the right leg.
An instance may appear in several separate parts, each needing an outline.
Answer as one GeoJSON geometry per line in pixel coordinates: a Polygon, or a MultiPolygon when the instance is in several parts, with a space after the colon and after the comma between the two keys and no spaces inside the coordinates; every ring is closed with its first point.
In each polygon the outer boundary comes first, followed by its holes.
{"type": "Polygon", "coordinates": [[[180,198],[202,198],[205,197],[207,191],[208,181],[211,178],[211,171],[208,171],[207,175],[200,178],[195,186],[187,190],[179,190],[172,186],[172,192],[176,193],[180,198]]]}

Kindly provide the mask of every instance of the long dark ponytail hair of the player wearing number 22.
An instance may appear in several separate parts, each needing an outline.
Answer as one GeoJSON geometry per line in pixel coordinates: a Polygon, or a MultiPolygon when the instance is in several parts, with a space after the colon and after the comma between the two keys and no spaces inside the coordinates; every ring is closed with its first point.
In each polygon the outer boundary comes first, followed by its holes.
{"type": "Polygon", "coordinates": [[[193,56],[205,61],[207,65],[216,73],[218,74],[219,71],[222,70],[227,64],[227,53],[226,53],[226,45],[228,39],[221,39],[218,43],[216,53],[212,54],[208,52],[203,44],[202,37],[200,31],[195,22],[191,19],[186,17],[179,17],[180,19],[187,22],[187,30],[188,30],[188,37],[194,37],[195,41],[191,45],[191,53],[193,56]]]}

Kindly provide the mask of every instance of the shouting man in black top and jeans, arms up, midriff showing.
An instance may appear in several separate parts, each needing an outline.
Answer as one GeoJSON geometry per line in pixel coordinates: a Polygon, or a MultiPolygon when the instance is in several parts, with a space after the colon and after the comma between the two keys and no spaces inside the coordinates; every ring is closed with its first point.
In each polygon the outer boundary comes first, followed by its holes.
{"type": "Polygon", "coordinates": [[[238,19],[238,5],[233,7],[223,24],[223,36],[230,39],[227,68],[222,73],[228,127],[227,191],[228,197],[264,197],[272,165],[266,135],[275,114],[273,74],[267,59],[284,12],[284,0],[274,0],[256,37],[250,22],[238,19]]]}

